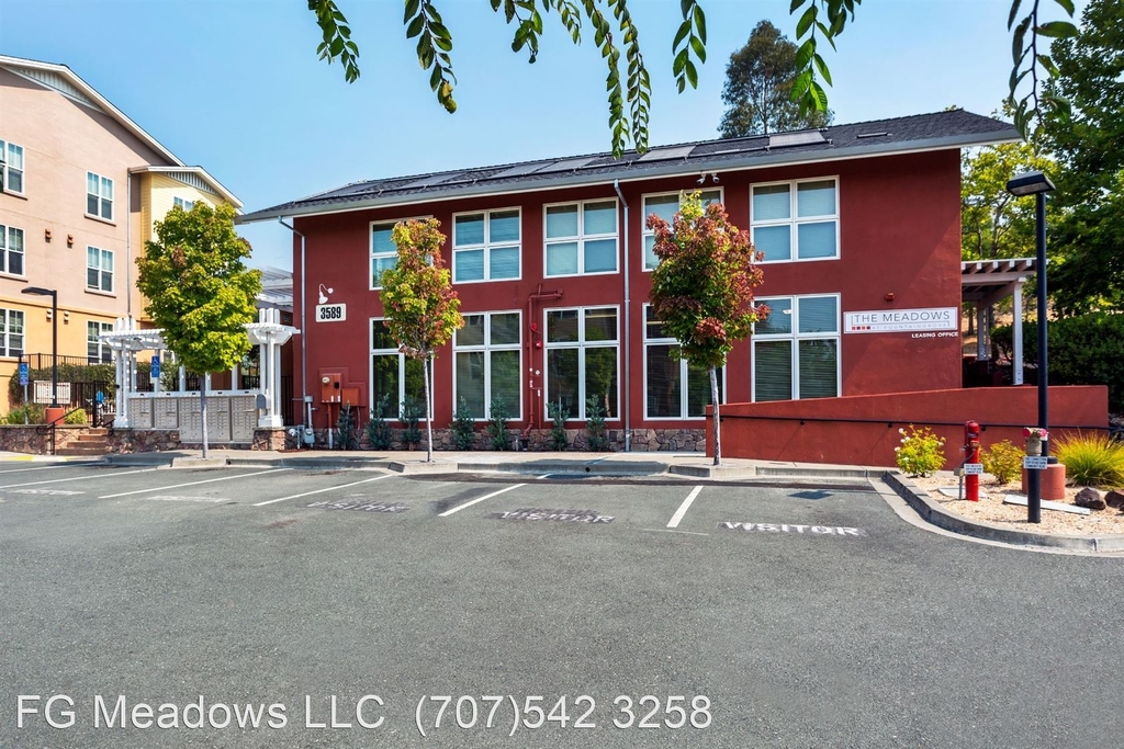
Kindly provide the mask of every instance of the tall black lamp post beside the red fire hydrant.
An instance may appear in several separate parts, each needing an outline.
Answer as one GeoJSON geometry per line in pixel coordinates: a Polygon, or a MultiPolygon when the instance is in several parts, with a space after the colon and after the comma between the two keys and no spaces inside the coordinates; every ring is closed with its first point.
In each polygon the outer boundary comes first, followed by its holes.
{"type": "MultiPolygon", "coordinates": [[[[1037,307],[1039,307],[1039,428],[1049,429],[1050,424],[1050,391],[1049,357],[1046,351],[1046,193],[1054,189],[1042,172],[1024,172],[1016,174],[1007,182],[1007,192],[1019,198],[1034,195],[1034,235],[1037,255],[1037,307]]],[[[1050,454],[1049,439],[1042,440],[1042,455],[1050,454]]],[[[1057,463],[1057,458],[1050,458],[1057,463]]],[[[1026,472],[1026,521],[1042,522],[1042,472],[1026,472]]]]}

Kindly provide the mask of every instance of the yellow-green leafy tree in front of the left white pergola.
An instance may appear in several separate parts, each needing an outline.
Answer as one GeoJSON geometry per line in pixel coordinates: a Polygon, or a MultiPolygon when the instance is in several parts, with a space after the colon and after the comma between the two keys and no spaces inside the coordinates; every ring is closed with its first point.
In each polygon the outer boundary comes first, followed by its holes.
{"type": "MultiPolygon", "coordinates": [[[[199,375],[229,369],[250,349],[245,325],[255,319],[262,274],[251,271],[250,243],[234,231],[234,209],[199,200],[156,221],[156,241],[137,258],[137,289],[145,311],[176,359],[199,375]]],[[[200,377],[203,457],[207,457],[207,385],[200,377]]]]}

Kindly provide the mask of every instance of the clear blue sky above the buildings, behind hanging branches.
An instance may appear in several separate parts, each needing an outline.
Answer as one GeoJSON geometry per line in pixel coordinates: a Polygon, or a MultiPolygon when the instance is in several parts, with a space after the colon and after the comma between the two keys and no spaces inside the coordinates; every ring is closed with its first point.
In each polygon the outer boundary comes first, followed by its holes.
{"type": "MultiPolygon", "coordinates": [[[[402,3],[337,2],[360,45],[354,84],[317,60],[305,0],[0,0],[0,52],[69,65],[247,212],[359,180],[609,150],[604,63],[592,35],[575,47],[556,15],[528,65],[488,0],[438,0],[459,80],[448,115],[405,38],[402,3]]],[[[789,0],[706,0],[708,62],[698,89],[677,94],[679,0],[629,7],[652,76],[652,145],[717,137],[726,63],[758,21],[795,36],[789,0]]],[[[994,111],[1010,71],[1009,9],[1010,0],[865,0],[839,52],[825,53],[835,121],[950,104],[994,111]]],[[[254,265],[292,267],[287,230],[242,232],[254,265]]]]}

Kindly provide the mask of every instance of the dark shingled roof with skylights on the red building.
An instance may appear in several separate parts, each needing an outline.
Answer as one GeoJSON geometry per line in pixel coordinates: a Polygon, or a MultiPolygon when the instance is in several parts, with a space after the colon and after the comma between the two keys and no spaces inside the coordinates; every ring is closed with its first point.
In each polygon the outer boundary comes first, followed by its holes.
{"type": "Polygon", "coordinates": [[[620,158],[601,153],[355,182],[254,211],[241,217],[238,221],[248,223],[471,195],[606,184],[615,180],[629,182],[660,176],[722,173],[985,146],[1019,139],[1018,133],[1007,122],[957,109],[833,125],[813,130],[656,146],[645,154],[627,152],[620,158]]]}

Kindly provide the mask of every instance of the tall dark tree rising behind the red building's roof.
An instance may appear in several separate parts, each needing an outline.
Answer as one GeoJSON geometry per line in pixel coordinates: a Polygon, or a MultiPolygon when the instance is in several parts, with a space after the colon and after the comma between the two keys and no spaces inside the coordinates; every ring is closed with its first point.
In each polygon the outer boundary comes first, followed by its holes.
{"type": "Polygon", "coordinates": [[[729,109],[718,130],[724,138],[831,125],[831,110],[800,111],[792,101],[796,45],[776,26],[758,24],[745,46],[729,56],[722,100],[729,109]]]}

